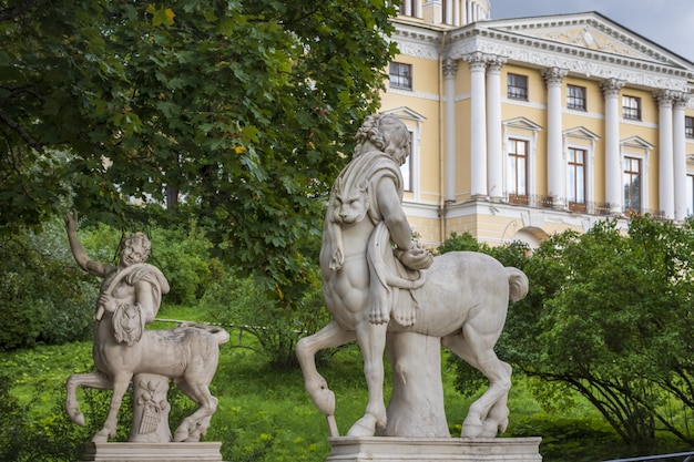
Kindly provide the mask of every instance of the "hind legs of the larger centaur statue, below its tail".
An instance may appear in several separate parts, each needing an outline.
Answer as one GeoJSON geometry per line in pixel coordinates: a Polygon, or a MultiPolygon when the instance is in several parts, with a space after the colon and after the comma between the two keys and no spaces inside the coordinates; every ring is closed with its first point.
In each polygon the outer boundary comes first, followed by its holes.
{"type": "Polygon", "coordinates": [[[489,379],[487,391],[470,405],[462,423],[461,438],[493,438],[499,431],[506,431],[508,425],[507,399],[511,388],[511,367],[494,353],[498,337],[498,333],[480,333],[471,324],[467,324],[462,332],[442,339],[445,347],[489,379]]]}

